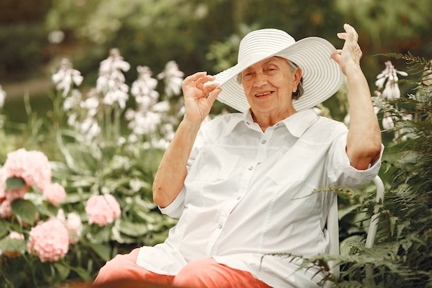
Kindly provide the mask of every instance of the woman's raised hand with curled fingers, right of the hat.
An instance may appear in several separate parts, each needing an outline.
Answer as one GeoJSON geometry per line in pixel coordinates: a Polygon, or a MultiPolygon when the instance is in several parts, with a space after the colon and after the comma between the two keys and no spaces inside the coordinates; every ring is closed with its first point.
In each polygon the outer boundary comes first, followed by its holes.
{"type": "Polygon", "coordinates": [[[362,50],[357,43],[358,34],[349,24],[344,24],[345,32],[337,33],[337,37],[344,39],[345,43],[342,50],[331,55],[331,58],[335,60],[342,69],[342,73],[346,75],[348,67],[355,65],[360,67],[360,59],[362,58],[362,50]]]}

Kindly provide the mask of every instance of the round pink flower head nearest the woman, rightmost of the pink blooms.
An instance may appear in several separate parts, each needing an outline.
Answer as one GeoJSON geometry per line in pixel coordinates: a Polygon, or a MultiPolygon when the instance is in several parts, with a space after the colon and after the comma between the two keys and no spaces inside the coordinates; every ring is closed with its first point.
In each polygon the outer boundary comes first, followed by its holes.
{"type": "Polygon", "coordinates": [[[88,224],[95,223],[103,227],[119,218],[121,209],[114,196],[104,194],[90,197],[87,200],[86,212],[88,213],[88,224]]]}

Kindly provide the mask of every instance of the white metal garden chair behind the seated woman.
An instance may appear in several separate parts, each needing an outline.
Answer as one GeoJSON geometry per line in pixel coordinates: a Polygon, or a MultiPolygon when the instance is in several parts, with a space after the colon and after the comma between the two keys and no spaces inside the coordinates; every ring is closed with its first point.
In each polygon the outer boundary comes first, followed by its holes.
{"type": "MultiPolygon", "coordinates": [[[[384,200],[384,184],[379,176],[373,179],[373,183],[375,184],[377,195],[376,201],[380,202],[384,200]]],[[[380,213],[377,210],[374,211],[371,217],[371,224],[369,226],[369,231],[366,237],[366,248],[372,248],[373,243],[375,242],[375,236],[377,234],[377,227],[380,218],[380,213]]],[[[328,248],[328,254],[330,255],[339,255],[339,218],[337,217],[337,196],[333,197],[333,201],[331,202],[330,211],[328,211],[327,216],[327,231],[330,236],[330,246],[328,248]]],[[[330,261],[328,263],[331,268],[331,273],[339,276],[340,267],[337,265],[337,262],[330,261]]],[[[371,269],[366,269],[366,277],[372,275],[371,269]]],[[[331,287],[333,283],[326,282],[323,287],[331,287]]]]}

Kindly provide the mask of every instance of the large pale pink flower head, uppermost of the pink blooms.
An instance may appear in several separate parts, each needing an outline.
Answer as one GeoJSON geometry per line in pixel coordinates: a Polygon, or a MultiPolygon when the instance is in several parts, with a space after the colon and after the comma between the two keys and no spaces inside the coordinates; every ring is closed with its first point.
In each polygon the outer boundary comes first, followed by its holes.
{"type": "Polygon", "coordinates": [[[36,185],[43,191],[51,182],[51,166],[46,155],[39,151],[26,151],[20,148],[8,153],[3,166],[6,177],[22,178],[28,186],[36,185]]]}

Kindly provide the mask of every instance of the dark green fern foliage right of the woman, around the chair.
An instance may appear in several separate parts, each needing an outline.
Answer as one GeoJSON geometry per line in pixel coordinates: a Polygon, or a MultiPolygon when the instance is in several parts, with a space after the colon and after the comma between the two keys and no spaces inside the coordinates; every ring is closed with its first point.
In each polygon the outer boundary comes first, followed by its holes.
{"type": "Polygon", "coordinates": [[[386,56],[407,61],[409,73],[417,78],[389,85],[415,86],[414,93],[374,99],[382,111],[383,135],[393,135],[386,142],[381,173],[386,180],[384,202],[376,203],[368,186],[340,189],[342,203],[355,212],[342,218],[351,222],[351,237],[342,241],[340,256],[309,260],[324,271],[328,260],[340,263],[340,278],[328,276],[334,287],[432,287],[432,62],[411,54],[386,56]],[[377,210],[381,216],[375,246],[366,249],[365,215],[377,210]]]}

